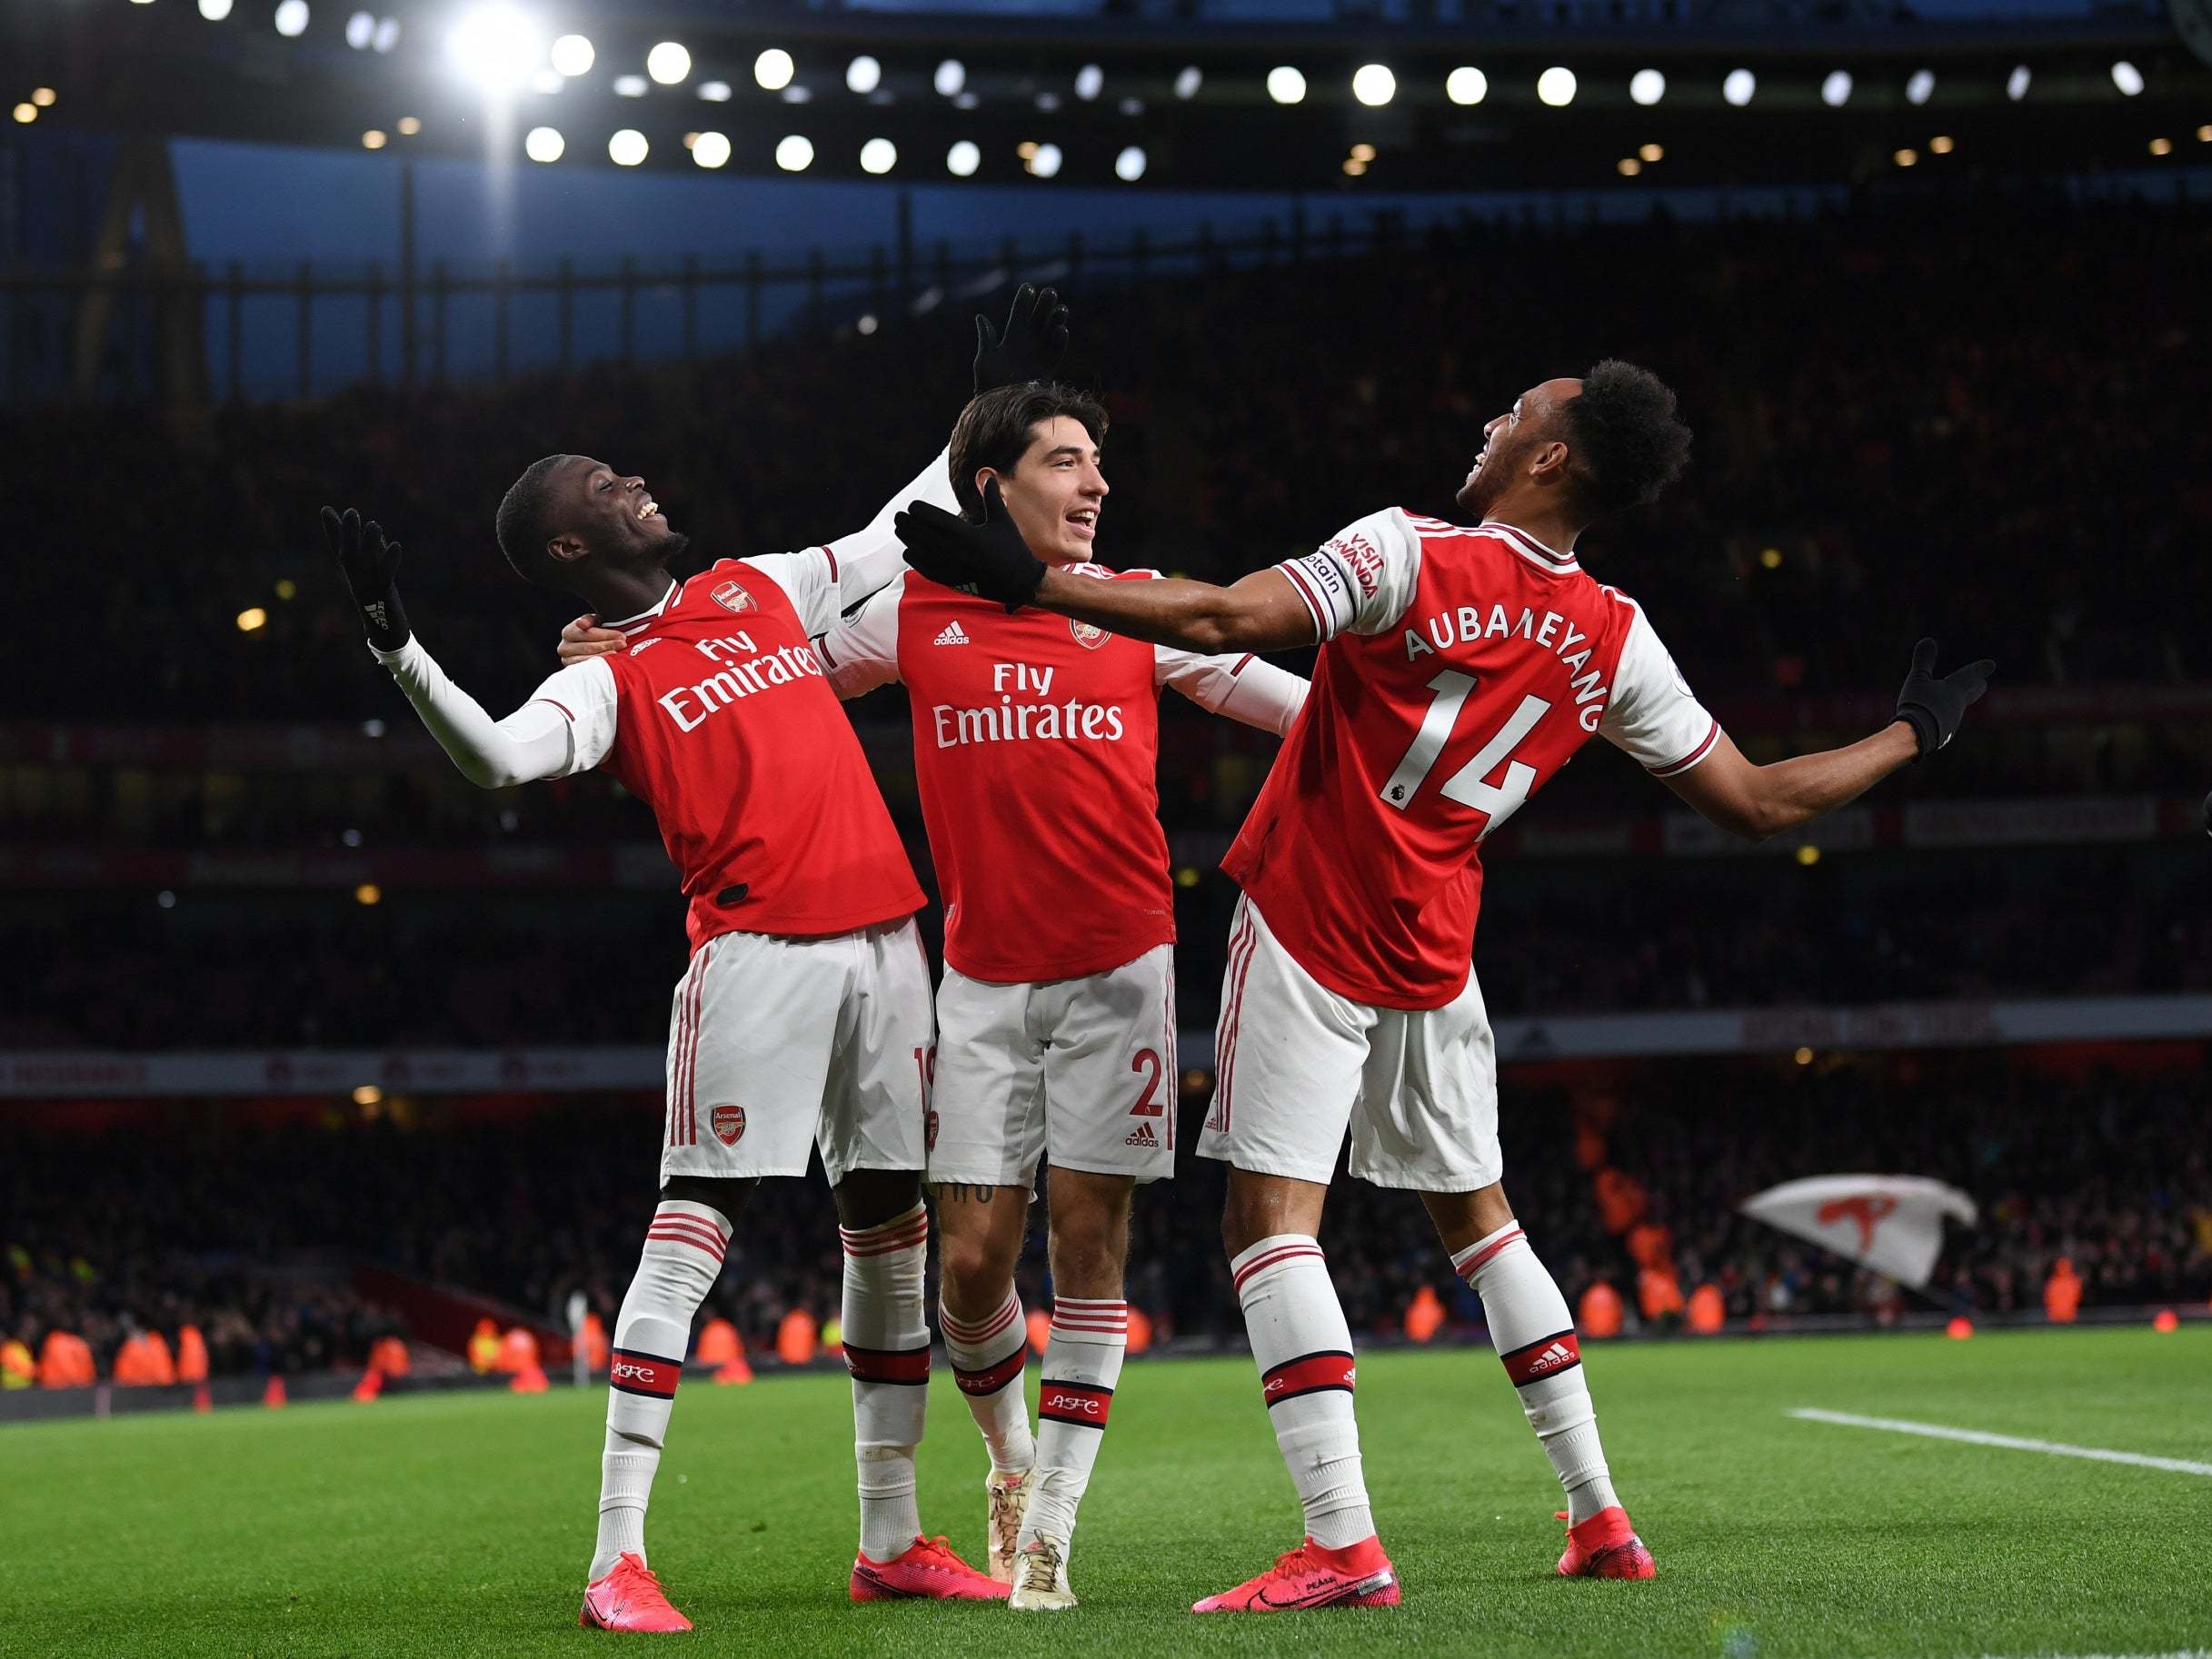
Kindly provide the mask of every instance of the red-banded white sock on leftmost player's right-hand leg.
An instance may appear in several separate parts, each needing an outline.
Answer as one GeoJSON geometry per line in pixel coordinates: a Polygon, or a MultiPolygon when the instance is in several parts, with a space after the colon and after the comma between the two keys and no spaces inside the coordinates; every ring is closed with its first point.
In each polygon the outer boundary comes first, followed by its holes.
{"type": "Polygon", "coordinates": [[[905,1555],[922,1531],[914,1449],[929,1407],[929,1314],[922,1261],[929,1212],[916,1203],[845,1241],[845,1369],[852,1371],[854,1455],[860,1464],[860,1553],[905,1555]]]}

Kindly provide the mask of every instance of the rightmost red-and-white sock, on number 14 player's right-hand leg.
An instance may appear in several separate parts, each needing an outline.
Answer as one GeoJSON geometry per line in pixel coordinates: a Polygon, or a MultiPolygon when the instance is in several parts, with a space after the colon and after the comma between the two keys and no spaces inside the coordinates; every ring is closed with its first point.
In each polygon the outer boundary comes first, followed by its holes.
{"type": "Polygon", "coordinates": [[[1582,1343],[1566,1296],[1537,1261],[1535,1248],[1509,1221],[1451,1259],[1453,1272],[1482,1298],[1482,1318],[1506,1376],[1522,1396],[1528,1427],[1566,1486],[1568,1526],[1613,1509],[1613,1478],[1597,1440],[1597,1407],[1582,1374],[1582,1343]]]}

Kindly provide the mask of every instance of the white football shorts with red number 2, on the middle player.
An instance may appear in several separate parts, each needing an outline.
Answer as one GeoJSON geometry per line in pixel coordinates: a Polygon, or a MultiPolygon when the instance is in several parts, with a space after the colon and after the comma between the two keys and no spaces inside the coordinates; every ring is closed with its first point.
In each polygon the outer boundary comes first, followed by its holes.
{"type": "Polygon", "coordinates": [[[929,1179],[1020,1186],[1037,1161],[1175,1175],[1175,947],[1079,980],[993,984],[945,969],[929,1179]]]}

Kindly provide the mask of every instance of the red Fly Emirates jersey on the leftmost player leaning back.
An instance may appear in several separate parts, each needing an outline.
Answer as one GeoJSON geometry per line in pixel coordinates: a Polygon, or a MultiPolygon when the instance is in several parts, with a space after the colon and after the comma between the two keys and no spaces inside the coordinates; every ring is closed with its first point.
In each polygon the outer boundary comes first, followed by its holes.
{"type": "Polygon", "coordinates": [[[836,617],[836,591],[830,549],[721,560],[615,624],[626,653],[564,668],[538,692],[557,703],[580,677],[571,770],[604,765],[653,807],[684,874],[692,949],[739,929],[847,933],[922,907],[807,641],[810,622],[836,617]]]}

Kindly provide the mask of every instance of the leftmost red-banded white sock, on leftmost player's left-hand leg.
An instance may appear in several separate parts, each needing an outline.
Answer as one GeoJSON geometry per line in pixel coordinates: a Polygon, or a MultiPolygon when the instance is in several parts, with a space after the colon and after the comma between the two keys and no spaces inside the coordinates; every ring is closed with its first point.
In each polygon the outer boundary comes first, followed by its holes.
{"type": "MultiPolygon", "coordinates": [[[[646,1506],[668,1440],[668,1413],[690,1352],[690,1323],[714,1290],[730,1250],[730,1219],[706,1203],[664,1201],[646,1228],[637,1274],[615,1314],[599,1455],[599,1542],[588,1579],[615,1571],[624,1551],[646,1555],[646,1506]]],[[[588,1582],[586,1579],[586,1582],[588,1582]]]]}

